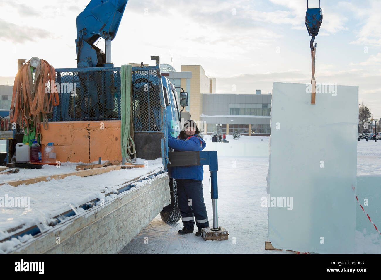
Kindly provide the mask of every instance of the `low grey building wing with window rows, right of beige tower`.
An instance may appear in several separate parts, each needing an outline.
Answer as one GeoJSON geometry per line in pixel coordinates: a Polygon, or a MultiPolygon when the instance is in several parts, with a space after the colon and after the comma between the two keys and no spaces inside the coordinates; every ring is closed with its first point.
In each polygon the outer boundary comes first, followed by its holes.
{"type": "Polygon", "coordinates": [[[201,95],[200,118],[201,123],[206,123],[204,132],[207,134],[237,131],[247,136],[270,136],[271,94],[201,95]]]}

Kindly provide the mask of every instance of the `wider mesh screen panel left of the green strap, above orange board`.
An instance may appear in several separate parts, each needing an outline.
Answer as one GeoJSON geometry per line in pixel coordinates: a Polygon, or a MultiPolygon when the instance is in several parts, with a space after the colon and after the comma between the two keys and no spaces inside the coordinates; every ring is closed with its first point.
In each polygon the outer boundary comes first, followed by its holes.
{"type": "Polygon", "coordinates": [[[55,88],[60,102],[50,121],[120,120],[120,71],[57,70],[55,88]]]}

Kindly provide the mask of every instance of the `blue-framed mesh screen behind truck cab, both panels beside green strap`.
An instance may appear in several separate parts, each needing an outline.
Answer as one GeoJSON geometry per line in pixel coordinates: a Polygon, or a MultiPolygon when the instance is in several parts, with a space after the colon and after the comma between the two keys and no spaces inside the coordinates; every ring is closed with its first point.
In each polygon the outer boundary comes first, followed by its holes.
{"type": "MultiPolygon", "coordinates": [[[[70,70],[56,70],[60,103],[49,121],[120,120],[120,68],[70,70]]],[[[134,131],[160,131],[160,84],[158,70],[133,67],[134,131]]]]}

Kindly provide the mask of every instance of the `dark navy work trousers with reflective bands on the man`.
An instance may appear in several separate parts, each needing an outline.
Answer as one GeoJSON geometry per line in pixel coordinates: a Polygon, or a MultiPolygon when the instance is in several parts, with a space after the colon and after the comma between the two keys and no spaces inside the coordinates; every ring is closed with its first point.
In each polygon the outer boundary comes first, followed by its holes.
{"type": "Polygon", "coordinates": [[[196,226],[209,227],[207,208],[204,203],[204,189],[202,181],[194,179],[175,179],[181,220],[184,228],[194,230],[196,226]]]}

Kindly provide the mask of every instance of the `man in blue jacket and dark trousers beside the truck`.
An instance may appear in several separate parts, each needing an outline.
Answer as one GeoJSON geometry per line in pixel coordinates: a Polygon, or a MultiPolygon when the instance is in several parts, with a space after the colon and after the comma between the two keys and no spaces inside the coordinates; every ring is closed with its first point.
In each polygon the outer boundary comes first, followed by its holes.
{"type": "MultiPolygon", "coordinates": [[[[168,146],[175,152],[201,151],[207,144],[199,133],[196,123],[193,120],[187,120],[177,138],[168,136],[168,146]]],[[[178,234],[192,233],[196,221],[198,228],[196,236],[200,236],[201,228],[209,227],[202,187],[203,166],[176,166],[172,167],[171,171],[171,176],[176,179],[177,183],[181,220],[184,224],[184,228],[179,230],[178,234]]]]}

